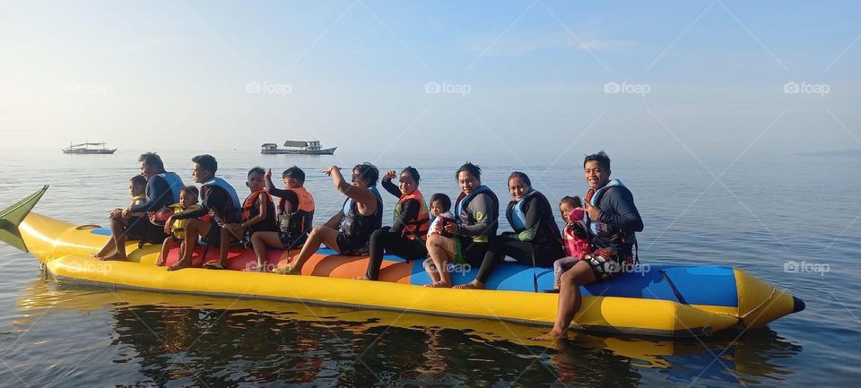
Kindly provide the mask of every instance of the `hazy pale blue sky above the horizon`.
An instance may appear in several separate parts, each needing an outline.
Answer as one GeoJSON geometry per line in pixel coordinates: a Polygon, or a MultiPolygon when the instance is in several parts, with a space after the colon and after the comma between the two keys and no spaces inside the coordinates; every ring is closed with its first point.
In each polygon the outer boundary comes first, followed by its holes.
{"type": "Polygon", "coordinates": [[[859,37],[857,1],[4,2],[0,147],[858,150],[859,37]]]}

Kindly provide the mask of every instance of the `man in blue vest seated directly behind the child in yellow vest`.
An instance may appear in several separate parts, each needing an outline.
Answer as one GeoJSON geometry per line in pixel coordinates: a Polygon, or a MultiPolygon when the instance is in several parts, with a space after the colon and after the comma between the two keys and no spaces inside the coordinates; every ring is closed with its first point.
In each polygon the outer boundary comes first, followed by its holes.
{"type": "Polygon", "coordinates": [[[177,263],[168,271],[181,270],[191,266],[191,256],[194,253],[197,237],[203,237],[204,243],[210,246],[221,246],[221,232],[224,224],[238,223],[242,220],[242,203],[236,190],[224,179],[215,177],[218,162],[212,155],[197,155],[191,159],[195,163],[191,176],[195,182],[202,184],[200,189],[201,207],[195,211],[183,211],[170,216],[172,220],[188,220],[186,224],[185,249],[177,263]],[[210,220],[197,220],[209,214],[210,220]]]}

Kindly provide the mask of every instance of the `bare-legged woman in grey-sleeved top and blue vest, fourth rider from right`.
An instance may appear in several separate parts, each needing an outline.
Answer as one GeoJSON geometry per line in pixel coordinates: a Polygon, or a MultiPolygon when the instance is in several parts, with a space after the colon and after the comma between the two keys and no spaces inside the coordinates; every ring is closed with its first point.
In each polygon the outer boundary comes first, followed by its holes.
{"type": "Polygon", "coordinates": [[[444,227],[455,236],[428,237],[428,254],[439,272],[439,280],[428,287],[451,287],[450,263],[476,266],[482,263],[491,238],[496,237],[499,228],[500,200],[490,187],[482,185],[482,169],[466,162],[457,168],[455,177],[461,189],[455,205],[457,222],[444,227]]]}

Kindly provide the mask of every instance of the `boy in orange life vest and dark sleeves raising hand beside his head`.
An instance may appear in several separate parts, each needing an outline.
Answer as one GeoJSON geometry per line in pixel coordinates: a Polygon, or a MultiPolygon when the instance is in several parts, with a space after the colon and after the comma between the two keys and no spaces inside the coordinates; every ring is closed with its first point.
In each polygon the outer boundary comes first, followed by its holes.
{"type": "Polygon", "coordinates": [[[293,166],[284,170],[282,178],[286,189],[272,183],[272,169],[266,170],[266,190],[278,201],[278,230],[257,232],[251,236],[251,245],[257,256],[257,271],[265,271],[266,246],[279,249],[300,248],[305,244],[314,222],[314,197],[305,189],[305,172],[293,166]]]}

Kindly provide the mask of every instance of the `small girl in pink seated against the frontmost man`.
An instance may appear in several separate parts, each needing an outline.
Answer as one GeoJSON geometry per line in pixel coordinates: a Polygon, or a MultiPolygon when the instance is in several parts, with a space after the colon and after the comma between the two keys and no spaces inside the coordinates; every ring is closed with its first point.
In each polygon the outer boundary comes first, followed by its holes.
{"type": "Polygon", "coordinates": [[[592,252],[589,244],[589,232],[586,226],[586,212],[583,203],[578,196],[567,196],[559,203],[559,211],[562,220],[565,220],[565,228],[562,230],[563,248],[565,255],[553,262],[554,289],[559,289],[559,280],[562,273],[570,270],[579,260],[592,252]]]}

